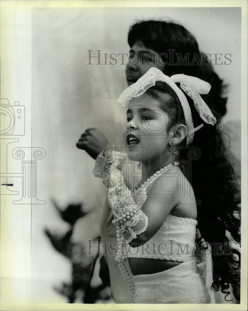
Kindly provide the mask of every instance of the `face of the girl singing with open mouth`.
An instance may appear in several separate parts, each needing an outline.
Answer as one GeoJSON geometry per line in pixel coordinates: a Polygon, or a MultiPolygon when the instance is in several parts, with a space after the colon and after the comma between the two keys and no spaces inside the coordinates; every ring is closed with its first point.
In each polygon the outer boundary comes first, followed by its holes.
{"type": "MultiPolygon", "coordinates": [[[[164,95],[164,100],[169,101],[170,96],[164,95]]],[[[126,112],[127,125],[123,131],[129,159],[148,164],[164,162],[162,155],[166,155],[171,139],[168,135],[168,114],[159,108],[162,104],[162,101],[146,93],[130,100],[126,112]]]]}

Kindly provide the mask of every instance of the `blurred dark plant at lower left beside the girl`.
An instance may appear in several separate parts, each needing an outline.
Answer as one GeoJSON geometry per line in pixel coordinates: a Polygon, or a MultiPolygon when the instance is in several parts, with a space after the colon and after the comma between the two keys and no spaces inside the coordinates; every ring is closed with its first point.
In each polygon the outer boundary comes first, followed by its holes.
{"type": "Polygon", "coordinates": [[[63,234],[45,229],[45,234],[55,250],[70,260],[72,267],[71,283],[63,282],[54,289],[66,296],[69,303],[80,300],[82,303],[94,304],[99,299],[109,299],[109,289],[105,285],[92,287],[90,284],[99,254],[86,255],[83,244],[75,243],[71,239],[76,221],[85,217],[88,212],[84,211],[82,204],[69,204],[65,209],[58,207],[55,201],[53,204],[62,220],[70,225],[70,229],[63,234]]]}

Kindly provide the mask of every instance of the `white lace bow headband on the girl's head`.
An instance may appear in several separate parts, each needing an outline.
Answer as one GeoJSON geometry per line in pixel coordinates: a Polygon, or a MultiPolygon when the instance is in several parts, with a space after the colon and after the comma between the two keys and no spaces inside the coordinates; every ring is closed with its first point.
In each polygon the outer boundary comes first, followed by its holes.
{"type": "Polygon", "coordinates": [[[208,82],[196,77],[186,76],[184,74],[177,74],[168,77],[155,67],[150,68],[148,72],[146,72],[144,76],[140,77],[138,81],[128,86],[126,90],[124,90],[120,95],[118,102],[124,107],[128,107],[129,100],[144,94],[145,91],[154,86],[157,81],[166,82],[177,94],[183,109],[187,127],[186,145],[189,145],[193,141],[194,132],[202,128],[203,124],[197,128],[194,128],[191,109],[186,96],[181,91],[181,89],[192,98],[197,112],[205,123],[212,125],[216,123],[216,118],[213,116],[208,105],[200,96],[200,94],[209,93],[211,86],[208,82]],[[181,89],[176,85],[176,83],[180,83],[181,89]]]}

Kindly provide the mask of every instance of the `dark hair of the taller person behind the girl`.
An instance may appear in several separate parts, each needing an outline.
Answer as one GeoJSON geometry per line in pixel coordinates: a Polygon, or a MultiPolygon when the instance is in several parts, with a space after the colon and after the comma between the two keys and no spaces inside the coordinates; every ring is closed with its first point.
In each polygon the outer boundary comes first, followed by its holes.
{"type": "Polygon", "coordinates": [[[209,94],[213,98],[215,109],[221,116],[226,114],[227,98],[223,97],[226,86],[214,72],[210,61],[206,57],[202,59],[203,53],[199,51],[195,37],[186,28],[171,21],[140,21],[131,26],[128,33],[130,47],[138,41],[158,54],[167,53],[167,57],[163,57],[163,61],[168,62],[164,70],[167,76],[184,73],[209,82],[211,84],[209,94]],[[172,52],[169,50],[175,50],[174,55],[180,54],[181,59],[188,54],[187,64],[180,65],[176,57],[172,59],[172,52]]]}

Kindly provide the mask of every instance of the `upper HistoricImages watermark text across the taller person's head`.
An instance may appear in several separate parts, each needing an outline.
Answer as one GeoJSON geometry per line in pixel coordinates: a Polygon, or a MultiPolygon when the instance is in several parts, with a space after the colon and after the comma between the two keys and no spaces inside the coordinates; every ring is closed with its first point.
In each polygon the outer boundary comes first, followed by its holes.
{"type": "Polygon", "coordinates": [[[195,66],[195,65],[231,65],[232,53],[195,53],[175,52],[174,49],[168,49],[167,53],[104,53],[103,50],[86,50],[88,63],[86,65],[149,65],[149,66],[195,66]]]}

